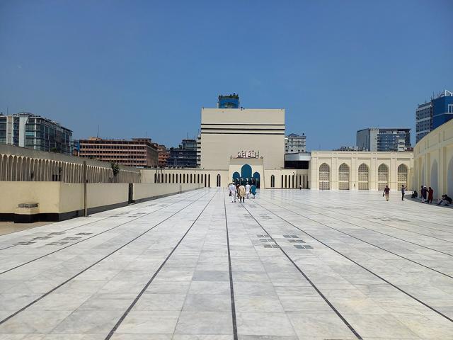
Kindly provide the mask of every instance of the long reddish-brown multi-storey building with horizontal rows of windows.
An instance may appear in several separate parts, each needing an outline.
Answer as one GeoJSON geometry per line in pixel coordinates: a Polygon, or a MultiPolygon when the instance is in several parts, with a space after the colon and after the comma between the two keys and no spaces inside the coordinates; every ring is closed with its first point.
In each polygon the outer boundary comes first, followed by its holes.
{"type": "Polygon", "coordinates": [[[157,148],[151,143],[151,138],[103,140],[89,137],[88,140],[79,140],[79,157],[143,168],[158,165],[157,148]]]}

